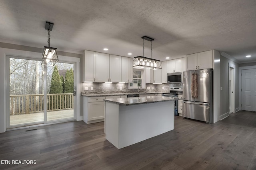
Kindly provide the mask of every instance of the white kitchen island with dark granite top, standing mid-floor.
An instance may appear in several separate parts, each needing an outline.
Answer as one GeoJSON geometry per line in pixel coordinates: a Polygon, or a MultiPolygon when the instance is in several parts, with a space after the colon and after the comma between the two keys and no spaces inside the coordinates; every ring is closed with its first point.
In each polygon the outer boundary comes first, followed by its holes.
{"type": "Polygon", "coordinates": [[[118,149],[174,129],[174,101],[147,96],[104,99],[106,139],[118,149]]]}

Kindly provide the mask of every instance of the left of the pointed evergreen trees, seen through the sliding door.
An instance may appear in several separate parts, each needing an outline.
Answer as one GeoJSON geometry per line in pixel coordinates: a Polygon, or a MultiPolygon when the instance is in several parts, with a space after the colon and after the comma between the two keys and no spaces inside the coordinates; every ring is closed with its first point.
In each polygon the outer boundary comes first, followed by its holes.
{"type": "Polygon", "coordinates": [[[57,69],[57,66],[54,66],[54,70],[52,72],[52,80],[50,86],[50,94],[58,94],[63,93],[62,82],[60,80],[60,74],[57,69]]]}

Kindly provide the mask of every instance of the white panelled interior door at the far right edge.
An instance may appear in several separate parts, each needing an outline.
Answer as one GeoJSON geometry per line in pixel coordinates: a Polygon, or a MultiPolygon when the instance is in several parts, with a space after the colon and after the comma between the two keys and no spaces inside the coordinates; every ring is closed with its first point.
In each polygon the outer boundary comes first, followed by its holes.
{"type": "Polygon", "coordinates": [[[242,110],[256,111],[256,69],[242,70],[242,110]]]}

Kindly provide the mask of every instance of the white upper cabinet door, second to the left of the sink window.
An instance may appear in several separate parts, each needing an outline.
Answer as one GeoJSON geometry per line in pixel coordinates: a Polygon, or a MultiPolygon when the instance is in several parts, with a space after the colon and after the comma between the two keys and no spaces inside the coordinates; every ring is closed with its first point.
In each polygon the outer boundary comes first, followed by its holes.
{"type": "Polygon", "coordinates": [[[109,57],[109,82],[121,82],[121,56],[110,55],[109,57]]]}

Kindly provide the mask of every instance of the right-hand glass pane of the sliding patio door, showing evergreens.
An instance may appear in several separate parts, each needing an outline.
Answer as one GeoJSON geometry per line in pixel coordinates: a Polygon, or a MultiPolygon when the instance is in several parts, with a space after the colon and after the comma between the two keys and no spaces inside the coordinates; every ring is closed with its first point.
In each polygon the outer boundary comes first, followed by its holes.
{"type": "Polygon", "coordinates": [[[74,118],[74,64],[47,66],[46,121],[74,118]]]}

